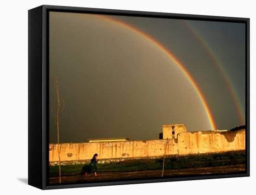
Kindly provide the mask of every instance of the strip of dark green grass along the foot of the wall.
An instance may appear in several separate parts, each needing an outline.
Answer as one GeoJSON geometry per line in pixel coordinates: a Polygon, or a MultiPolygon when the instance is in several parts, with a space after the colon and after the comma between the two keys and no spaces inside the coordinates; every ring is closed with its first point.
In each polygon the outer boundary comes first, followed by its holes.
{"type": "MultiPolygon", "coordinates": [[[[124,172],[162,169],[163,158],[126,160],[119,163],[97,164],[98,172],[124,172]]],[[[233,151],[216,154],[200,154],[188,156],[166,156],[165,169],[187,169],[197,167],[215,167],[223,165],[244,164],[245,151],[233,151]]],[[[85,172],[88,164],[61,166],[62,176],[77,175],[85,172]]],[[[49,167],[49,176],[58,176],[59,166],[49,167]]]]}

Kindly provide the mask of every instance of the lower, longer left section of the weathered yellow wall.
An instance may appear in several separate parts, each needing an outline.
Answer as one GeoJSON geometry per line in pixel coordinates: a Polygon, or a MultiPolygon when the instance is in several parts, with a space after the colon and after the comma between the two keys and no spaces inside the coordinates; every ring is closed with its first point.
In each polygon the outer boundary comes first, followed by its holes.
{"type": "MultiPolygon", "coordinates": [[[[60,147],[61,161],[91,159],[97,153],[98,159],[105,158],[133,158],[162,156],[167,140],[146,140],[126,142],[99,142],[99,143],[61,143],[49,144],[49,161],[59,161],[58,147],[60,147]]],[[[177,139],[170,139],[166,155],[178,153],[177,139]]]]}

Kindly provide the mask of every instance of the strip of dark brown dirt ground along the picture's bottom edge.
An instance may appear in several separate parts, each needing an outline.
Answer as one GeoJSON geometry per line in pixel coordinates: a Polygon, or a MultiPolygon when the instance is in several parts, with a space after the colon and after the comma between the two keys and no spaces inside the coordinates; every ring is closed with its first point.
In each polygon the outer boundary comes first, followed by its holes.
{"type": "MultiPolygon", "coordinates": [[[[218,166],[218,167],[203,167],[203,168],[191,168],[191,169],[173,169],[165,170],[164,177],[174,176],[189,176],[189,175],[209,175],[209,174],[224,174],[224,173],[236,173],[245,171],[244,164],[218,166]]],[[[61,183],[70,182],[100,182],[108,180],[122,180],[122,179],[146,179],[161,177],[162,170],[146,170],[146,171],[128,171],[128,172],[99,172],[98,176],[94,176],[93,173],[84,175],[62,176],[61,183]]],[[[54,184],[59,182],[59,177],[50,177],[49,183],[54,184]]]]}

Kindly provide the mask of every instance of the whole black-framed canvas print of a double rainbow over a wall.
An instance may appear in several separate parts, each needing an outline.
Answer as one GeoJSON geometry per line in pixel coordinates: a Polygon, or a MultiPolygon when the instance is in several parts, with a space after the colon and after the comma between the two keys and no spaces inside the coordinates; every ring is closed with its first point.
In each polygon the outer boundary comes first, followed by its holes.
{"type": "Polygon", "coordinates": [[[28,11],[28,183],[249,176],[249,19],[28,11]]]}

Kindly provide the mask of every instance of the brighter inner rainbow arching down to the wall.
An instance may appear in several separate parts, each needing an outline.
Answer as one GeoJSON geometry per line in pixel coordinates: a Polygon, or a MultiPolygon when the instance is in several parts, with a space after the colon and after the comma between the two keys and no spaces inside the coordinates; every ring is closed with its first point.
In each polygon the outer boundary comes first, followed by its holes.
{"type": "Polygon", "coordinates": [[[149,42],[151,42],[152,44],[156,45],[160,50],[162,50],[162,52],[164,52],[169,58],[171,58],[173,60],[173,62],[182,70],[182,72],[185,74],[185,76],[188,78],[189,82],[193,85],[198,97],[200,98],[202,105],[206,111],[207,117],[209,119],[209,123],[211,126],[211,130],[216,130],[216,123],[213,119],[212,113],[210,112],[209,106],[205,100],[205,98],[203,97],[202,91],[200,91],[198,85],[195,83],[195,80],[191,77],[191,75],[189,74],[189,72],[185,69],[184,65],[182,65],[182,63],[174,56],[173,53],[171,53],[170,51],[167,50],[167,48],[165,48],[163,45],[161,45],[159,42],[157,42],[155,39],[153,39],[152,37],[150,37],[148,34],[146,34],[145,32],[142,32],[141,30],[135,28],[134,26],[130,26],[127,23],[111,18],[107,15],[95,15],[95,17],[99,17],[102,20],[106,20],[108,22],[112,22],[115,23],[116,25],[119,25],[123,28],[126,28],[128,30],[131,30],[137,34],[139,34],[141,37],[143,37],[144,39],[147,39],[149,42]]]}

